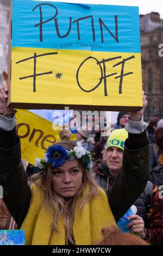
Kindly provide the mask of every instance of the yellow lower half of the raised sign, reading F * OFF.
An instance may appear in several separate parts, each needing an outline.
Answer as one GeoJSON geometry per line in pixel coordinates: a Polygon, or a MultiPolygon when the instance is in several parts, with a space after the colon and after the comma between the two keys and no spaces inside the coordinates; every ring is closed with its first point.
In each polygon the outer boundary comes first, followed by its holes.
{"type": "Polygon", "coordinates": [[[13,47],[11,102],[142,106],[140,62],[140,53],[13,47]]]}

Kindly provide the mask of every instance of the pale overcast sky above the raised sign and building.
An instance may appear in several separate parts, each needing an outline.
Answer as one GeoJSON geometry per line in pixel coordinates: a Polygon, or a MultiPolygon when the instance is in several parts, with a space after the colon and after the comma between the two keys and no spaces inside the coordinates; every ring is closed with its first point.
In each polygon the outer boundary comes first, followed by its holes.
{"type": "MultiPolygon", "coordinates": [[[[48,0],[44,0],[48,1],[48,0]]],[[[90,4],[112,4],[112,5],[133,5],[139,6],[140,14],[151,13],[157,11],[163,19],[163,1],[162,0],[65,0],[65,1],[50,1],[50,2],[65,2],[65,3],[90,3],[90,4]]]]}

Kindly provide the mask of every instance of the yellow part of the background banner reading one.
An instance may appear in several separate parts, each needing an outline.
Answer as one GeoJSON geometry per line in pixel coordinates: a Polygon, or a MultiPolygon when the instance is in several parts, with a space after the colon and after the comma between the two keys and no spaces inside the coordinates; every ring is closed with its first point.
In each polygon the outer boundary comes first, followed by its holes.
{"type": "MultiPolygon", "coordinates": [[[[34,164],[37,157],[43,157],[53,143],[60,141],[60,130],[53,130],[54,123],[48,115],[35,111],[17,109],[17,133],[21,138],[22,159],[34,164]]],[[[51,114],[52,117],[52,114],[51,114]]],[[[76,139],[73,134],[71,139],[76,139]]]]}

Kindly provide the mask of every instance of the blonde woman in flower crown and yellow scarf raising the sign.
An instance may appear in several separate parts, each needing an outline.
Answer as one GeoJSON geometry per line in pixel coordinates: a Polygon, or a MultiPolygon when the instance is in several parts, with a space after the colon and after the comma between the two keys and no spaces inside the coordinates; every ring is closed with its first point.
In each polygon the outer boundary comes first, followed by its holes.
{"type": "Polygon", "coordinates": [[[149,145],[146,125],[141,120],[144,108],[130,113],[133,124],[127,127],[129,137],[123,154],[124,168],[107,196],[92,177],[91,153],[68,141],[55,143],[43,159],[36,159],[38,174],[33,176],[29,187],[21,163],[15,111],[7,108],[6,72],[3,76],[0,185],[3,186],[3,200],[18,228],[25,231],[26,244],[91,245],[102,239],[101,230],[116,225],[149,179],[149,145]]]}

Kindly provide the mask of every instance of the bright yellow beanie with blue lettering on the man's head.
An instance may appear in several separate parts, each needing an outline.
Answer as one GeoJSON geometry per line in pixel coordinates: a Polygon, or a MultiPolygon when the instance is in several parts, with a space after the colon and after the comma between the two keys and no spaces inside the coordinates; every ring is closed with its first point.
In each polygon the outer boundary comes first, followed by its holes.
{"type": "Polygon", "coordinates": [[[117,147],[124,150],[124,142],[128,138],[128,132],[125,129],[117,129],[111,132],[106,142],[106,151],[109,147],[117,147]]]}

